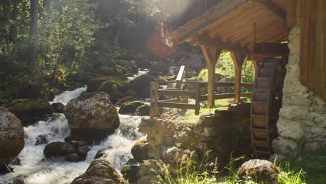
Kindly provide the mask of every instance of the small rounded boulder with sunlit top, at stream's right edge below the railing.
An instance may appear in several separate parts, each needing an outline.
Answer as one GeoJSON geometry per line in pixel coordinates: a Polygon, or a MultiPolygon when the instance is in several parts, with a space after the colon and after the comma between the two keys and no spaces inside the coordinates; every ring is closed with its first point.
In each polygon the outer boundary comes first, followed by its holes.
{"type": "Polygon", "coordinates": [[[150,144],[148,144],[146,139],[137,141],[131,149],[134,160],[137,160],[138,162],[143,162],[143,160],[148,159],[148,151],[150,151],[150,144]]]}

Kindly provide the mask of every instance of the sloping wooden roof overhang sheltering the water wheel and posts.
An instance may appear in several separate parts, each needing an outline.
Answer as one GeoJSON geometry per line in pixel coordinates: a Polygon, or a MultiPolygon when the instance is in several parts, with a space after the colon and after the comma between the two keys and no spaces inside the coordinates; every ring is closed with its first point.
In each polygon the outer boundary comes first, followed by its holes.
{"type": "Polygon", "coordinates": [[[233,51],[288,37],[285,0],[222,0],[172,33],[178,41],[233,51]]]}

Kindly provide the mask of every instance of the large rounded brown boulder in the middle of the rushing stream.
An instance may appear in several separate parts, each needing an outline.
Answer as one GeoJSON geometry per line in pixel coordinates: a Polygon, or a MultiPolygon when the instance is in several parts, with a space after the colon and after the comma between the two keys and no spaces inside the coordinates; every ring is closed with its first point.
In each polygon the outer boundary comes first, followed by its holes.
{"type": "Polygon", "coordinates": [[[70,100],[65,108],[65,117],[72,137],[88,141],[104,139],[120,125],[116,107],[104,92],[86,93],[70,100]]]}

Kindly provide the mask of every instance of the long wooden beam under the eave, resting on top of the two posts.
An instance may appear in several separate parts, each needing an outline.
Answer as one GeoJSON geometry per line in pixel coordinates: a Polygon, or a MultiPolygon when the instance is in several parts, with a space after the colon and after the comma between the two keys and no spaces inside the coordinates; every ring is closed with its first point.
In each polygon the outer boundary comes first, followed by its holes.
{"type": "Polygon", "coordinates": [[[246,47],[241,47],[240,45],[237,44],[224,43],[219,38],[209,38],[208,36],[192,36],[190,44],[216,47],[217,49],[226,49],[238,53],[247,53],[246,47]]]}

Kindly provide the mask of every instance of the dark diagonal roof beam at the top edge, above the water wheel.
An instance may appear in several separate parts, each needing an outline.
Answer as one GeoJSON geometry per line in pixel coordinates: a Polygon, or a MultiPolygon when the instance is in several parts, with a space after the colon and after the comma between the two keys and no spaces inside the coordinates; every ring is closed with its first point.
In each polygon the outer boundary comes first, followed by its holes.
{"type": "Polygon", "coordinates": [[[276,17],[278,17],[279,20],[286,23],[286,12],[273,1],[271,0],[251,0],[251,1],[263,6],[265,10],[269,11],[273,15],[276,15],[276,17]]]}

